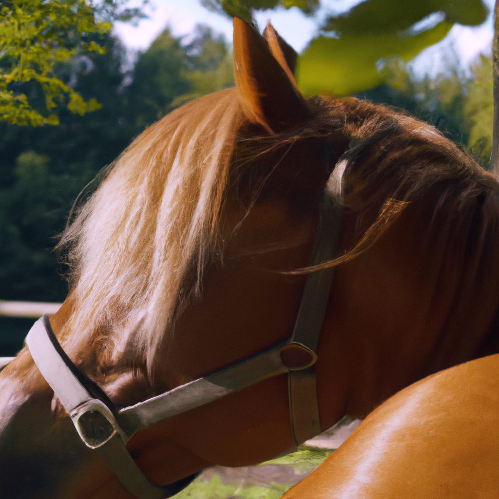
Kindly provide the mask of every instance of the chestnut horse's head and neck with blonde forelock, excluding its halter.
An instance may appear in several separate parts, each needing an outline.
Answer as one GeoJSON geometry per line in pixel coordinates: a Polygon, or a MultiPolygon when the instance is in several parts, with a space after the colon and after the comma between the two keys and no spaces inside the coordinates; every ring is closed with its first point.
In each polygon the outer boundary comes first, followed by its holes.
{"type": "MultiPolygon", "coordinates": [[[[45,327],[116,408],[287,340],[307,274],[329,267],[311,368],[318,431],[499,351],[497,180],[404,112],[305,99],[295,62],[271,26],[261,36],[236,18],[236,87],[145,130],[62,235],[70,292],[45,327]],[[324,193],[341,207],[338,250],[310,266],[324,193]]],[[[26,346],[0,374],[0,415],[7,497],[134,497],[82,443],[26,346]]],[[[157,422],[127,449],[151,482],[172,484],[298,443],[281,373],[157,422]]]]}

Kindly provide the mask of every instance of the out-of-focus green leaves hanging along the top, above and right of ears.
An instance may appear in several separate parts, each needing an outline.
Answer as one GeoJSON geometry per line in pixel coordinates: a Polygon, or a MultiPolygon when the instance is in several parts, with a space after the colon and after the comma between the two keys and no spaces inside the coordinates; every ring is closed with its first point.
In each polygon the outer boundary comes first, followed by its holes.
{"type": "MultiPolygon", "coordinates": [[[[255,13],[278,6],[313,16],[320,0],[201,0],[209,9],[256,24],[255,13]]],[[[334,7],[333,7],[334,8],[334,7]]],[[[482,24],[482,0],[365,0],[346,12],[316,18],[317,33],[300,54],[297,83],[306,95],[350,95],[385,81],[392,58],[409,61],[459,23],[482,24]]]]}

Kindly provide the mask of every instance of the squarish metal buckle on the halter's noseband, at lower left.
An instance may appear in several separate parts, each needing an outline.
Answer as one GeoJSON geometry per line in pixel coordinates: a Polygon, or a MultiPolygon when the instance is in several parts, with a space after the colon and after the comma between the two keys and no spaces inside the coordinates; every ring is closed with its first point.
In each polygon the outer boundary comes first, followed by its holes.
{"type": "Polygon", "coordinates": [[[81,440],[90,449],[98,449],[119,434],[128,439],[118,426],[114,414],[102,401],[91,399],[78,406],[70,414],[81,440]]]}

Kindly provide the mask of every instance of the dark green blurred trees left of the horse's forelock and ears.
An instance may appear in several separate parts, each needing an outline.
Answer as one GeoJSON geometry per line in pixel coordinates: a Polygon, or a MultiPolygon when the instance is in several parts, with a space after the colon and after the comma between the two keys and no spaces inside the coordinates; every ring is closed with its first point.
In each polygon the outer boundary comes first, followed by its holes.
{"type": "Polygon", "coordinates": [[[93,36],[103,53],[73,57],[54,72],[100,109],[80,116],[61,106],[58,126],[0,122],[0,299],[64,299],[64,267],[51,249],[80,190],[173,107],[233,85],[229,46],[209,28],[197,28],[187,45],[163,32],[129,72],[121,42],[93,36]]]}

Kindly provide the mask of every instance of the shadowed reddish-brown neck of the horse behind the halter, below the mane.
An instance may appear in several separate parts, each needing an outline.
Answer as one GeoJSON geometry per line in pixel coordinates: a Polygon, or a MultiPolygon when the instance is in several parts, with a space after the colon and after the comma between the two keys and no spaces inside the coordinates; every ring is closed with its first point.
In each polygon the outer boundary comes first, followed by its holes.
{"type": "MultiPolygon", "coordinates": [[[[418,379],[499,350],[499,196],[478,194],[458,211],[428,192],[336,268],[316,365],[326,427],[342,415],[336,400],[363,418],[418,379]]],[[[340,251],[356,224],[344,218],[340,251]]]]}

